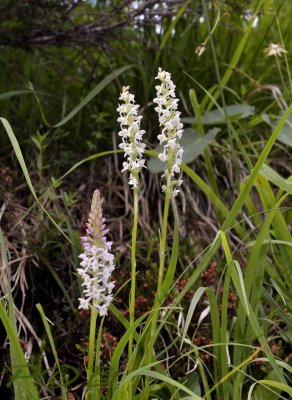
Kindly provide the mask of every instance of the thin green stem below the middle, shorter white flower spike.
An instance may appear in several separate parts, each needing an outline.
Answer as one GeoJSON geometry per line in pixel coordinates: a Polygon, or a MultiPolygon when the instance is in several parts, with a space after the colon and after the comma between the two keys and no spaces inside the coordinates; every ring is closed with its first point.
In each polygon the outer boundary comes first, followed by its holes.
{"type": "MultiPolygon", "coordinates": [[[[131,294],[130,294],[130,326],[135,322],[135,298],[136,298],[136,244],[137,244],[137,228],[138,228],[138,193],[139,188],[134,188],[134,221],[132,229],[132,246],[131,246],[131,294]]],[[[131,357],[133,354],[133,336],[129,337],[128,345],[128,365],[129,372],[132,372],[131,357]]],[[[132,399],[132,381],[129,381],[128,399],[132,399]]]]}

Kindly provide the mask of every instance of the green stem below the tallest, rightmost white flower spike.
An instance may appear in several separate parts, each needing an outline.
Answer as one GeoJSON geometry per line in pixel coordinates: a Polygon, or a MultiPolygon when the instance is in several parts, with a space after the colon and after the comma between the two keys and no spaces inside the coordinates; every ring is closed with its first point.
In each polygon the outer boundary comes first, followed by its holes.
{"type": "MultiPolygon", "coordinates": [[[[160,239],[160,262],[159,262],[159,271],[158,271],[158,282],[157,282],[157,292],[153,305],[153,316],[151,321],[151,333],[149,339],[149,346],[146,354],[146,364],[150,364],[152,362],[152,353],[155,344],[155,330],[159,316],[159,305],[163,300],[161,298],[161,288],[163,283],[163,274],[164,274],[164,265],[165,265],[165,252],[166,252],[166,237],[167,237],[167,223],[168,223],[168,213],[169,213],[169,204],[170,204],[170,196],[171,196],[171,187],[170,187],[170,175],[167,179],[167,189],[165,191],[165,200],[164,200],[164,211],[163,211],[163,221],[162,221],[162,232],[160,239]]],[[[145,389],[143,393],[143,399],[149,399],[149,391],[150,391],[150,378],[146,377],[145,380],[145,389]]]]}

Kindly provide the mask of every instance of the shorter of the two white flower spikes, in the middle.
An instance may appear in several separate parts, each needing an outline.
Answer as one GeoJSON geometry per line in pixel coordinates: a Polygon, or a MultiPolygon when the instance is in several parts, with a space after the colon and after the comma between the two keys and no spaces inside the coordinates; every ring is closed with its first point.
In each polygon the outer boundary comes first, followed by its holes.
{"type": "Polygon", "coordinates": [[[141,142],[145,131],[140,129],[142,117],[138,116],[139,105],[135,104],[134,95],[129,93],[129,86],[123,87],[119,100],[123,102],[117,108],[121,125],[118,134],[122,137],[119,147],[124,150],[124,157],[127,157],[122,172],[129,171],[129,185],[134,189],[139,186],[139,172],[145,164],[143,153],[146,145],[141,142]]]}

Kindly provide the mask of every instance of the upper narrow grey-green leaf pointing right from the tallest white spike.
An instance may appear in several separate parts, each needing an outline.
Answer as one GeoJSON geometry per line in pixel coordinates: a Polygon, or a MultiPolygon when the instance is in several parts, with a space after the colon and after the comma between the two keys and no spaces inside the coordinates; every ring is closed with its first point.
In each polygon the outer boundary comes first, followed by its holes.
{"type": "MultiPolygon", "coordinates": [[[[237,121],[238,119],[248,118],[255,113],[255,108],[248,104],[233,104],[226,106],[226,113],[230,121],[237,121]]],[[[197,119],[182,118],[182,122],[186,124],[196,124],[197,119]]],[[[202,116],[202,122],[205,125],[224,124],[226,122],[223,108],[219,110],[212,110],[202,116]]]]}

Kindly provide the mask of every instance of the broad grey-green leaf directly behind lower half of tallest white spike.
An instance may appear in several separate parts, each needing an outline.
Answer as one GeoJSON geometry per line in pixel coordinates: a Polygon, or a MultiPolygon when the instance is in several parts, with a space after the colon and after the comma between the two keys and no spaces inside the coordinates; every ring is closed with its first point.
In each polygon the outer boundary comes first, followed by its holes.
{"type": "MultiPolygon", "coordinates": [[[[190,163],[202,154],[206,147],[215,139],[218,132],[220,132],[219,128],[212,128],[205,136],[201,137],[195,129],[186,128],[180,140],[180,144],[184,149],[183,163],[190,163]]],[[[161,153],[163,146],[158,145],[154,150],[161,153]]],[[[153,173],[162,172],[165,169],[165,163],[161,162],[157,157],[151,157],[148,161],[148,168],[153,173]]]]}

